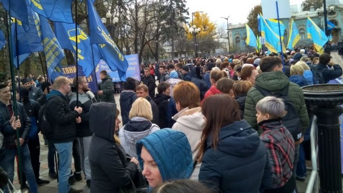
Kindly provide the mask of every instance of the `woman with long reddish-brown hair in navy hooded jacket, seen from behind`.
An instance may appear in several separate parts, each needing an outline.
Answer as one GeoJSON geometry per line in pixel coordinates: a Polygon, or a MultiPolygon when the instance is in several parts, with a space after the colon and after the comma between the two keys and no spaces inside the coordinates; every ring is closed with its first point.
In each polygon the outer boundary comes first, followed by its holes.
{"type": "Polygon", "coordinates": [[[240,120],[238,103],[227,94],[204,100],[199,181],[223,193],[258,193],[268,188],[271,170],[256,130],[240,120]],[[230,106],[230,108],[227,108],[230,106]]]}

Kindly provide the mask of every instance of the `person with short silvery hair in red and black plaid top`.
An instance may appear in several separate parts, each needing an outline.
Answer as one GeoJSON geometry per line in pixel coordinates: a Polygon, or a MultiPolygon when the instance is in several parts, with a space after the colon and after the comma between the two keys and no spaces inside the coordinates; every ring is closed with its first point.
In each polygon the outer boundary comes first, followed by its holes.
{"type": "Polygon", "coordinates": [[[292,175],[294,160],[294,139],[282,124],[286,115],[285,104],[281,98],[267,96],[256,104],[257,123],[263,133],[260,138],[267,149],[271,166],[272,184],[264,193],[292,193],[295,178],[292,175]]]}

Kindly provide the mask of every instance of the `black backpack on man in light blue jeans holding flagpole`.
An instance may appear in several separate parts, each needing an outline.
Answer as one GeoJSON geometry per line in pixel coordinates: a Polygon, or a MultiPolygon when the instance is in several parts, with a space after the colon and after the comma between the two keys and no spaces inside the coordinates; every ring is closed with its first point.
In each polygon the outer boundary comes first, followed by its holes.
{"type": "MultiPolygon", "coordinates": [[[[51,96],[51,98],[52,97],[56,97],[56,96],[51,96]]],[[[41,133],[43,135],[45,135],[45,137],[47,139],[50,139],[52,137],[52,135],[54,134],[54,129],[52,128],[52,125],[51,125],[50,121],[48,120],[47,104],[48,104],[48,100],[39,110],[38,123],[40,126],[41,133]]]]}

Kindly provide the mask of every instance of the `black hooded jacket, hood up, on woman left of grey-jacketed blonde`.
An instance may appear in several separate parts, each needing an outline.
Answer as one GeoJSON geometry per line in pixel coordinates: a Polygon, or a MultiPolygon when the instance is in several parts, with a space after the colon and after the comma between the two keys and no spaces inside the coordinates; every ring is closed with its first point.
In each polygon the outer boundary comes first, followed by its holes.
{"type": "Polygon", "coordinates": [[[120,192],[131,183],[137,164],[126,163],[123,147],[115,143],[116,109],[114,103],[94,103],[91,106],[90,129],[94,133],[89,149],[92,172],[91,192],[120,192]]]}

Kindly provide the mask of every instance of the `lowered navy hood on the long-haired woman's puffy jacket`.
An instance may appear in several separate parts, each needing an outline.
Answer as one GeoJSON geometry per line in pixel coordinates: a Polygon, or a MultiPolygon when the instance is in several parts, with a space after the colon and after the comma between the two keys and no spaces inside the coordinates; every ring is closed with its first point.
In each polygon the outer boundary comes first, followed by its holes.
{"type": "MultiPolygon", "coordinates": [[[[211,147],[212,133],[207,138],[207,147],[211,147]]],[[[245,120],[236,121],[220,129],[218,136],[219,151],[237,157],[251,156],[260,146],[260,137],[245,120]]]]}

